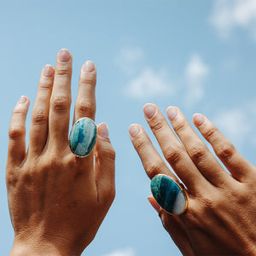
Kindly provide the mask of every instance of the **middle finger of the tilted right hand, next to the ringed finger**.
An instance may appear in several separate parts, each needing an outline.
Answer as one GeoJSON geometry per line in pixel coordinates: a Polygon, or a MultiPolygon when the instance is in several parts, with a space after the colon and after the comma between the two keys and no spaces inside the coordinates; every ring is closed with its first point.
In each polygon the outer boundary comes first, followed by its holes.
{"type": "Polygon", "coordinates": [[[201,190],[201,187],[207,186],[207,180],[201,175],[185,148],[179,143],[159,108],[154,104],[146,104],[144,114],[166,160],[189,191],[194,194],[195,191],[201,190]]]}

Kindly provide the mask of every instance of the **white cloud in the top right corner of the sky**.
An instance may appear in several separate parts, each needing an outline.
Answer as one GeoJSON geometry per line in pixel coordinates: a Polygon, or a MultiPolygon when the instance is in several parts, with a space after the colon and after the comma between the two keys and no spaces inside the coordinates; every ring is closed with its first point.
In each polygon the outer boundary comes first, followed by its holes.
{"type": "Polygon", "coordinates": [[[246,28],[256,35],[255,0],[216,0],[210,22],[224,37],[228,37],[235,27],[246,28]]]}

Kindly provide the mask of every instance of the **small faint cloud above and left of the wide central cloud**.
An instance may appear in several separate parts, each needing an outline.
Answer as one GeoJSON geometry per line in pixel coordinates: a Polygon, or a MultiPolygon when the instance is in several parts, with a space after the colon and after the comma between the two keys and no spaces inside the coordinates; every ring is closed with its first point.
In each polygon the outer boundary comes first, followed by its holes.
{"type": "Polygon", "coordinates": [[[140,48],[124,48],[115,57],[117,66],[126,75],[136,73],[138,64],[143,61],[144,53],[140,48]]]}

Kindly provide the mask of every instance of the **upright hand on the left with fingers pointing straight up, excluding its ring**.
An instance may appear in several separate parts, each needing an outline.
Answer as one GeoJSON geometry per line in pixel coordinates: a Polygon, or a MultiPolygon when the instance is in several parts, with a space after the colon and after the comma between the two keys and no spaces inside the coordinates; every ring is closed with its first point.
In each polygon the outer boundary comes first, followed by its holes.
{"type": "MultiPolygon", "coordinates": [[[[108,126],[98,125],[94,152],[86,158],[68,144],[72,55],[62,49],[55,69],[41,73],[26,152],[26,113],[21,96],[9,126],[6,167],[9,212],[15,230],[10,255],[79,255],[96,235],[111,206],[113,147],[108,126]]],[[[79,79],[73,122],[94,119],[96,67],[86,61],[79,79]]]]}

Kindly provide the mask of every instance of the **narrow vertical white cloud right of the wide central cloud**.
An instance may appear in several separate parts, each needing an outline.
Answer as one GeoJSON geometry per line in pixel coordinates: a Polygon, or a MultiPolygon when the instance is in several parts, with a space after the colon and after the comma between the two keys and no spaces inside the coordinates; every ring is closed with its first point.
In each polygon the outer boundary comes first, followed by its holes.
{"type": "Polygon", "coordinates": [[[199,102],[204,96],[203,80],[207,78],[209,67],[202,61],[200,55],[192,55],[185,69],[187,89],[184,95],[184,102],[191,106],[199,102]]]}

